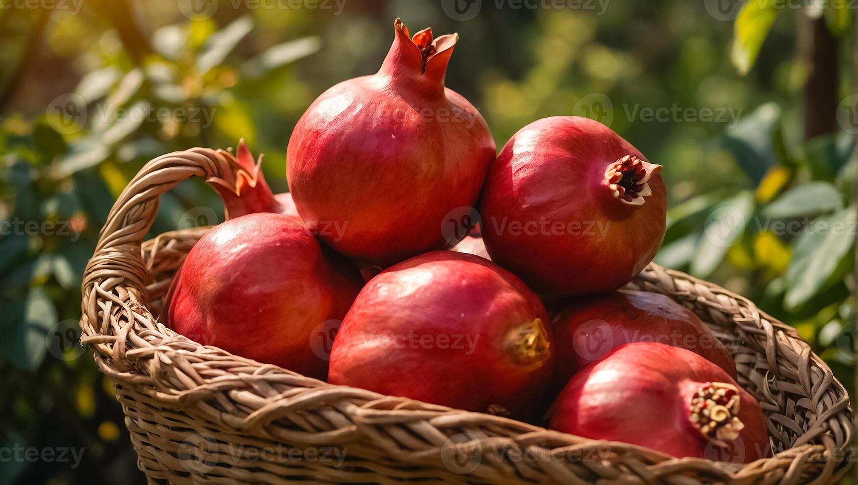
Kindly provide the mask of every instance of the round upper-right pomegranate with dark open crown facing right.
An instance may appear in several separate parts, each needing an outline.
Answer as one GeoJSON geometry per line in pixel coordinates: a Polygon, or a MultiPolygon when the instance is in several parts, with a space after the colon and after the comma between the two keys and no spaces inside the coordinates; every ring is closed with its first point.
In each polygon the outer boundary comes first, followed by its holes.
{"type": "Polygon", "coordinates": [[[528,124],[492,163],[480,197],[492,261],[545,296],[623,286],[662,244],[661,169],[592,119],[528,124]]]}

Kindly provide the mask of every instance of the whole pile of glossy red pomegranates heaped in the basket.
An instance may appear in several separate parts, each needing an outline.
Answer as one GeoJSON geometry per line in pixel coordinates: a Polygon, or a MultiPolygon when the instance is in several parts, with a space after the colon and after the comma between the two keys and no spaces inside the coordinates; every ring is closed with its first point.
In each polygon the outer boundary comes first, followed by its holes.
{"type": "Polygon", "coordinates": [[[497,155],[444,86],[457,41],[397,19],[378,73],[299,120],[288,193],[244,141],[221,152],[208,183],[227,221],[174,276],[168,324],[335,385],[679,458],[766,457],[729,349],[686,306],[619,289],[662,243],[662,166],[570,116],[497,155]]]}

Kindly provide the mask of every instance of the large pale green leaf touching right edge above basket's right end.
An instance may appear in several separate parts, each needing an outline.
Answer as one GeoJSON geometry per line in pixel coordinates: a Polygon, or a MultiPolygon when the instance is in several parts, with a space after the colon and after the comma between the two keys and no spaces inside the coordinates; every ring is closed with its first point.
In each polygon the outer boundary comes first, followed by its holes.
{"type": "Polygon", "coordinates": [[[855,206],[814,219],[793,243],[793,259],[786,275],[784,306],[801,306],[831,287],[854,264],[855,206]]]}

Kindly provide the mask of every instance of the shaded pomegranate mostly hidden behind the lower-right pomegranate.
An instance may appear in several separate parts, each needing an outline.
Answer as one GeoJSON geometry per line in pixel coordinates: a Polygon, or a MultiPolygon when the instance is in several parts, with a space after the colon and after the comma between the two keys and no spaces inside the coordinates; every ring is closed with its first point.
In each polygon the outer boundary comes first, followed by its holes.
{"type": "Polygon", "coordinates": [[[663,294],[620,290],[577,300],[553,320],[559,391],[572,374],[632,342],[688,349],[736,379],[727,348],[697,315],[663,294]]]}

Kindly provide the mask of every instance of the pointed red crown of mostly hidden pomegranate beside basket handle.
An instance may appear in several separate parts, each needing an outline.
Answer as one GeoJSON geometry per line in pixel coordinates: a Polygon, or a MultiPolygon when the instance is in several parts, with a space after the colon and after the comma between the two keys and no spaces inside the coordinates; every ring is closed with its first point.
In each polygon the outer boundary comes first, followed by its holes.
{"type": "Polygon", "coordinates": [[[259,155],[257,163],[253,163],[253,155],[244,139],[239,141],[236,155],[224,150],[218,150],[218,153],[224,156],[229,167],[225,170],[224,178],[209,177],[206,182],[223,199],[227,221],[245,214],[275,212],[302,222],[292,194],[284,192],[275,195],[271,191],[263,176],[263,155],[259,155]]]}

